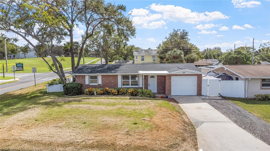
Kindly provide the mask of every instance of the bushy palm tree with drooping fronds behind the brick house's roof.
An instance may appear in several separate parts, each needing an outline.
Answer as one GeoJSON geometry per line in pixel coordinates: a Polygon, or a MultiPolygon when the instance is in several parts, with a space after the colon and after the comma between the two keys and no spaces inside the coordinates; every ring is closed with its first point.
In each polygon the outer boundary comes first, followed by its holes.
{"type": "Polygon", "coordinates": [[[166,53],[166,58],[163,61],[164,63],[183,63],[184,62],[184,53],[181,50],[173,49],[166,53]]]}

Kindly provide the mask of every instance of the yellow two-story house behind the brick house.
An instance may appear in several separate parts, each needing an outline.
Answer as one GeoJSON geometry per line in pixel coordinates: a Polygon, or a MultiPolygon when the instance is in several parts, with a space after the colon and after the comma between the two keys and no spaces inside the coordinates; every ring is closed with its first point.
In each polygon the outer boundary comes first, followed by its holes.
{"type": "Polygon", "coordinates": [[[160,63],[157,49],[133,50],[134,63],[160,63]]]}

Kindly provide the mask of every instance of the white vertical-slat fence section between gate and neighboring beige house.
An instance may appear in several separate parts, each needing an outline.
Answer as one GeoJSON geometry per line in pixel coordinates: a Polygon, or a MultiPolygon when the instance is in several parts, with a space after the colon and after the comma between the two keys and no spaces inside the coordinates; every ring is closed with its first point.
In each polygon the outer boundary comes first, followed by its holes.
{"type": "Polygon", "coordinates": [[[220,81],[220,95],[234,98],[244,98],[244,80],[220,81]]]}

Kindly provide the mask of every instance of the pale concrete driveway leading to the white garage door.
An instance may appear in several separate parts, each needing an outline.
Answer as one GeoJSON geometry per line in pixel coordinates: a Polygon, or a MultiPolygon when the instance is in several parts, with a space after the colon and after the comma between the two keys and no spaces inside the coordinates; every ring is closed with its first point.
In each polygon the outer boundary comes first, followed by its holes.
{"type": "Polygon", "coordinates": [[[198,96],[173,96],[196,128],[200,150],[270,150],[198,96]]]}

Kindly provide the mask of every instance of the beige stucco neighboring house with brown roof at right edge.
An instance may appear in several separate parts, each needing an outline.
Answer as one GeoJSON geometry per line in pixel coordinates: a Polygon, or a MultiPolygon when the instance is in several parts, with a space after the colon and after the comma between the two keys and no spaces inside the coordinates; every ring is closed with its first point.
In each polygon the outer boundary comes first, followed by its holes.
{"type": "Polygon", "coordinates": [[[212,71],[227,73],[233,80],[244,80],[245,98],[270,94],[270,65],[223,65],[212,71]]]}

